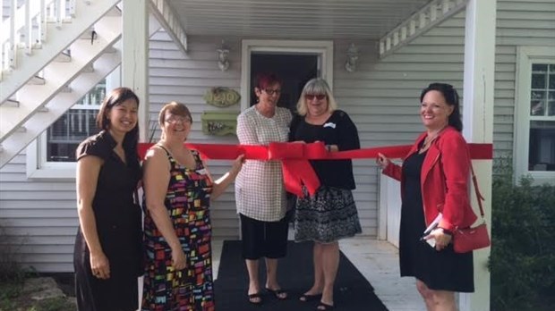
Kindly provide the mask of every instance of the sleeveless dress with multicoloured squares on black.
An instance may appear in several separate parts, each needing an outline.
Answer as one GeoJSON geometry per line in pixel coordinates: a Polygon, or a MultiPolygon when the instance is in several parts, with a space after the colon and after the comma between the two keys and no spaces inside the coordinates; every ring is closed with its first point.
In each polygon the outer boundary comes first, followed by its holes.
{"type": "Polygon", "coordinates": [[[147,267],[142,310],[214,310],[209,217],[212,181],[197,151],[192,150],[196,161],[194,170],[178,164],[167,150],[166,154],[171,169],[165,206],[184,249],[187,265],[184,270],[173,268],[171,248],[145,211],[147,267]]]}

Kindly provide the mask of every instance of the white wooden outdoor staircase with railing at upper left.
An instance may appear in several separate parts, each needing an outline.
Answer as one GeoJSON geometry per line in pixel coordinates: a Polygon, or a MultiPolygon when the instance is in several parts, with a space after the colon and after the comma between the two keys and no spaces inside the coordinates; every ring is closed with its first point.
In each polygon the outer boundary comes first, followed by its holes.
{"type": "Polygon", "coordinates": [[[11,2],[1,38],[0,167],[121,63],[119,0],[11,2]]]}

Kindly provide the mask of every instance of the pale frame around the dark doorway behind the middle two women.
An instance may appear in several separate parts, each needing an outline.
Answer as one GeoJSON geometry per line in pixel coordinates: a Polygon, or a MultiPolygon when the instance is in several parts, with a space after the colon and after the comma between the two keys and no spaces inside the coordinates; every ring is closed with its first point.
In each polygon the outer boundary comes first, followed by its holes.
{"type": "Polygon", "coordinates": [[[245,39],[241,53],[241,111],[250,107],[252,52],[320,55],[321,77],[333,90],[333,41],[245,39]]]}

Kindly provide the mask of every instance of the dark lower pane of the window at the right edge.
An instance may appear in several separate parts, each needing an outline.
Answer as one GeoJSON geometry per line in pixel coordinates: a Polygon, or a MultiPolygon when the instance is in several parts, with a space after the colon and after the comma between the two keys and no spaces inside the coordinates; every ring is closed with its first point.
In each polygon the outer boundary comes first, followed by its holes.
{"type": "Polygon", "coordinates": [[[530,122],[529,171],[555,171],[555,122],[530,122]]]}

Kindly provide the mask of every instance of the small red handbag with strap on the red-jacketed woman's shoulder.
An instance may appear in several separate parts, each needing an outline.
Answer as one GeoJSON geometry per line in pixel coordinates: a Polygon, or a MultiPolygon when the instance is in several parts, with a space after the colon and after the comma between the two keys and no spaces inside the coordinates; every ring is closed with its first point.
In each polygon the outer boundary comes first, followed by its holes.
{"type": "Polygon", "coordinates": [[[487,248],[491,245],[488,227],[485,223],[482,207],[482,194],[478,189],[478,181],[474,175],[474,169],[470,164],[472,172],[472,181],[474,183],[474,190],[476,191],[476,198],[478,199],[478,206],[480,206],[480,215],[482,216],[482,223],[475,227],[457,228],[453,231],[453,249],[456,253],[467,253],[474,249],[487,248]]]}

